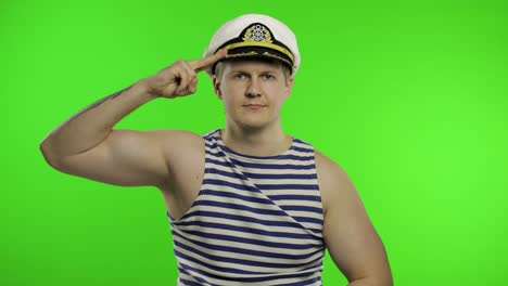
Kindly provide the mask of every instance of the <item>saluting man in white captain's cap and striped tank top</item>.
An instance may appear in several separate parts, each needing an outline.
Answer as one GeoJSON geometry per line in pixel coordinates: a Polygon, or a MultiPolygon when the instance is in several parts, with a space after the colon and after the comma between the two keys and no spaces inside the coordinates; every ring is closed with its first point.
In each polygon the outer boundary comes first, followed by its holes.
{"type": "Polygon", "coordinates": [[[178,285],[321,285],[327,248],[350,285],[392,285],[384,247],[345,172],[282,131],[300,53],[293,32],[257,14],[220,27],[203,58],[178,61],[87,107],[41,143],[63,172],[161,190],[172,222],[178,285]],[[226,127],[114,130],[158,98],[213,78],[226,127]]]}

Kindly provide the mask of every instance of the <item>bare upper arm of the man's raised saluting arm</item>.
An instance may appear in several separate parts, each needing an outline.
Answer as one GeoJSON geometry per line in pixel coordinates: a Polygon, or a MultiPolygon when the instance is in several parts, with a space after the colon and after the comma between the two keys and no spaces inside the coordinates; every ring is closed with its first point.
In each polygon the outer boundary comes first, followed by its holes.
{"type": "Polygon", "coordinates": [[[113,130],[98,146],[62,159],[63,171],[109,184],[160,185],[167,174],[161,134],[113,130]]]}

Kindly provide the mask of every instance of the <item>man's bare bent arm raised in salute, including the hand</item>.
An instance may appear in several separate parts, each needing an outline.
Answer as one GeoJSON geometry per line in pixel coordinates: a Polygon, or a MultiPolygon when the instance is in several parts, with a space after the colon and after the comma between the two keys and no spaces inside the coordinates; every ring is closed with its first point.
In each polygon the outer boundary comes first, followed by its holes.
{"type": "Polygon", "coordinates": [[[199,135],[177,130],[131,131],[113,127],[132,110],[157,98],[195,92],[196,72],[226,54],[178,61],[131,87],[93,103],[55,128],[40,144],[53,168],[74,176],[117,185],[162,186],[172,160],[202,148],[199,135]],[[167,147],[169,146],[169,147],[167,147]]]}

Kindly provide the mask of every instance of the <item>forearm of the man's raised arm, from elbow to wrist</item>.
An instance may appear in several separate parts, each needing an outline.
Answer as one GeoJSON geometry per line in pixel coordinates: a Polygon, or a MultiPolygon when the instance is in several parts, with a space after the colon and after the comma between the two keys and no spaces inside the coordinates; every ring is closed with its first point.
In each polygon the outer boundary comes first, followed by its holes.
{"type": "Polygon", "coordinates": [[[40,147],[45,157],[62,158],[93,148],[107,138],[122,118],[152,99],[141,80],[91,104],[42,141],[40,147]]]}

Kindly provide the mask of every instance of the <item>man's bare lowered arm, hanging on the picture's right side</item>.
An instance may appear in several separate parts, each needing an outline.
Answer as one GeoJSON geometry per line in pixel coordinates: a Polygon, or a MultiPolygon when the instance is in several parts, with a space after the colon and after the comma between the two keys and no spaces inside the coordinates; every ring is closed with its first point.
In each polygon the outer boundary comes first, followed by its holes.
{"type": "Polygon", "coordinates": [[[325,211],[325,244],[350,286],[391,286],[393,278],[384,246],[347,174],[316,152],[325,211]]]}

